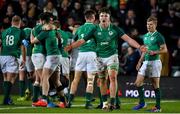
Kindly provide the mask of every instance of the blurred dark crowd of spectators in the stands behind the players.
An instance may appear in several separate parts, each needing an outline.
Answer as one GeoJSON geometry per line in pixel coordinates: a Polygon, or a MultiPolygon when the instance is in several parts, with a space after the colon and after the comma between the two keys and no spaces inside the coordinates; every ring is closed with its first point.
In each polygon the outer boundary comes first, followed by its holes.
{"type": "MultiPolygon", "coordinates": [[[[168,53],[161,55],[162,76],[180,76],[180,2],[179,0],[0,0],[0,30],[11,25],[14,15],[21,16],[26,27],[34,27],[42,12],[52,13],[61,23],[61,29],[71,31],[76,23],[85,22],[83,12],[102,7],[111,10],[112,23],[142,44],[140,37],[146,30],[146,19],[158,18],[158,31],[168,46],[168,53]]],[[[96,23],[98,23],[98,15],[96,23]]],[[[0,32],[1,32],[0,31],[0,32]]],[[[138,50],[119,41],[120,74],[136,76],[138,50]]]]}

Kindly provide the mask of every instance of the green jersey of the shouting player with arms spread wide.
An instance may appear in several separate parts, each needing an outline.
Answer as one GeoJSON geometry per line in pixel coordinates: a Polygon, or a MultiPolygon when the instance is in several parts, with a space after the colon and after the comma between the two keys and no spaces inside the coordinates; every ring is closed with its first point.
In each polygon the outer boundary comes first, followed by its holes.
{"type": "Polygon", "coordinates": [[[108,28],[97,25],[94,33],[97,43],[97,55],[106,58],[117,54],[118,40],[124,34],[124,31],[115,25],[110,24],[108,28]]]}

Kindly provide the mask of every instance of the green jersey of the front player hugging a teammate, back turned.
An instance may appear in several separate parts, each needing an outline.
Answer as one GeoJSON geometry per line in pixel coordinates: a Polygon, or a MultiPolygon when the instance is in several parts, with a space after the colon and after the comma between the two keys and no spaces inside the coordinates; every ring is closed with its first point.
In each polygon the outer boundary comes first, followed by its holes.
{"type": "Polygon", "coordinates": [[[45,40],[45,49],[47,55],[59,55],[60,50],[58,48],[58,39],[56,36],[56,30],[42,31],[37,39],[39,41],[45,40]]]}

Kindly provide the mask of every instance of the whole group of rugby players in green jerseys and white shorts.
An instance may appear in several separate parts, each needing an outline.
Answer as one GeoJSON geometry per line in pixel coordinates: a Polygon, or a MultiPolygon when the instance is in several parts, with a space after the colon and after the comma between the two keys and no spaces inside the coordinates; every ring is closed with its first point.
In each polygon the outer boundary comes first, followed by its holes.
{"type": "Polygon", "coordinates": [[[156,95],[156,105],[150,111],[160,112],[159,83],[162,63],[159,54],[166,53],[167,47],[164,37],[156,30],[157,18],[147,19],[148,33],[143,37],[144,45],[140,45],[121,28],[111,23],[111,12],[108,8],[102,8],[98,13],[99,24],[94,24],[96,13],[93,10],[85,11],[86,22],[80,27],[77,26],[74,34],[61,30],[59,21],[54,20],[50,13],[41,14],[39,23],[34,28],[23,30],[20,29],[21,18],[14,16],[12,26],[4,30],[1,35],[0,65],[4,77],[3,104],[13,103],[10,92],[18,73],[21,88],[19,100],[24,100],[26,70],[29,83],[33,83],[32,106],[71,108],[81,75],[86,72],[85,108],[93,108],[93,86],[95,77],[97,77],[100,94],[98,108],[120,109],[117,91],[119,69],[117,48],[118,40],[123,39],[141,52],[135,81],[139,92],[139,103],[133,107],[133,110],[146,107],[143,81],[147,76],[152,80],[156,95]],[[78,48],[77,59],[73,54],[69,55],[74,48],[78,48]],[[71,61],[75,63],[74,79],[72,83],[69,83],[71,61]],[[56,90],[59,98],[58,104],[49,99],[50,85],[53,85],[56,90]],[[109,100],[106,92],[108,88],[110,90],[109,100]]]}

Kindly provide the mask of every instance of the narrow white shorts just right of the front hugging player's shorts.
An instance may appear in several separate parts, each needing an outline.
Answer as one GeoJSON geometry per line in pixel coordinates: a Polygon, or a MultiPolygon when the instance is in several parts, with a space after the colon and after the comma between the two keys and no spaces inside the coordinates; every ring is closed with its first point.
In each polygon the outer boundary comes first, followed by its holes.
{"type": "Polygon", "coordinates": [[[70,61],[68,57],[60,57],[60,65],[61,70],[63,74],[69,74],[70,73],[70,61]]]}

